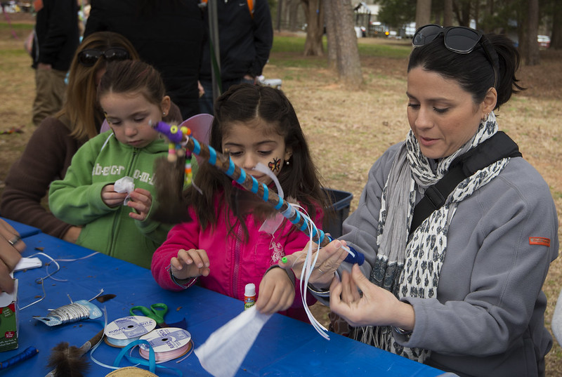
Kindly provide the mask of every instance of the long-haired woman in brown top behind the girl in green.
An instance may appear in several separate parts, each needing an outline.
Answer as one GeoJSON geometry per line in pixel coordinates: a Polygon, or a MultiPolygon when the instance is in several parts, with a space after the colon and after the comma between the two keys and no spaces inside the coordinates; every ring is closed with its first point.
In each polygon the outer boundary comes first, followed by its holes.
{"type": "MultiPolygon", "coordinates": [[[[84,38],[70,65],[62,110],[39,124],[6,176],[1,216],[76,242],[81,228],[55,218],[41,200],[53,180],[65,177],[78,148],[100,131],[104,117],[97,86],[107,62],[127,59],[138,60],[138,54],[121,34],[97,32],[84,38]]],[[[167,115],[167,121],[181,120],[176,105],[167,115]]]]}

